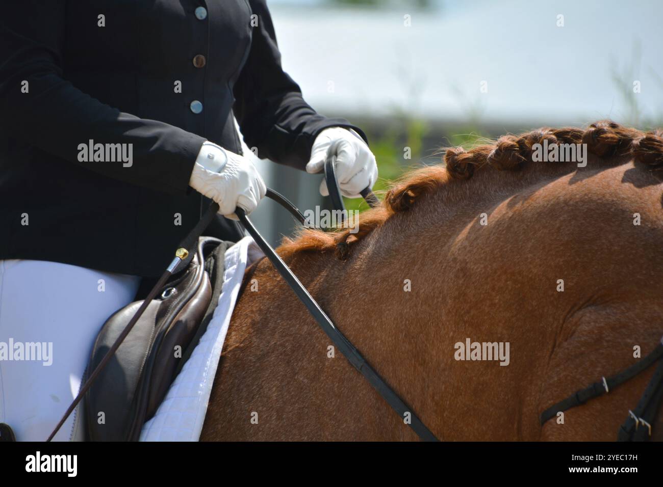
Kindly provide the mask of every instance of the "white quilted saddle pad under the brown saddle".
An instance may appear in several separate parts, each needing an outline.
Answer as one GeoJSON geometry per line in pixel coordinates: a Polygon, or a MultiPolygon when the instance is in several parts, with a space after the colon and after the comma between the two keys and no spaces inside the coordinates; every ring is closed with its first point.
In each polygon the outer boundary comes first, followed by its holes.
{"type": "Polygon", "coordinates": [[[206,332],[175,378],[156,414],[143,425],[140,441],[198,441],[221,358],[223,341],[247,266],[263,256],[251,237],[225,252],[219,303],[206,332]]]}

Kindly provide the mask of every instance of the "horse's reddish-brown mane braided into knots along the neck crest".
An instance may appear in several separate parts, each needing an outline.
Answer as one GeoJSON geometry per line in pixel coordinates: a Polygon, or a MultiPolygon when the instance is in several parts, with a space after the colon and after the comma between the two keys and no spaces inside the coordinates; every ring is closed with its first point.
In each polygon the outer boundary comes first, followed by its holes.
{"type": "Polygon", "coordinates": [[[406,175],[387,191],[382,204],[361,214],[359,231],[337,229],[324,232],[304,229],[296,239],[284,239],[277,249],[287,258],[296,252],[334,250],[341,258],[347,258],[351,244],[360,241],[373,229],[383,225],[391,215],[406,211],[417,199],[438,189],[450,180],[467,180],[477,168],[492,166],[497,170],[516,170],[532,161],[534,144],[587,144],[589,153],[602,159],[613,156],[631,156],[650,170],[663,170],[663,131],[643,132],[623,127],[613,121],[598,121],[587,129],[566,127],[542,128],[520,135],[504,135],[494,144],[483,144],[465,150],[448,148],[444,153],[444,165],[421,168],[406,175]]]}

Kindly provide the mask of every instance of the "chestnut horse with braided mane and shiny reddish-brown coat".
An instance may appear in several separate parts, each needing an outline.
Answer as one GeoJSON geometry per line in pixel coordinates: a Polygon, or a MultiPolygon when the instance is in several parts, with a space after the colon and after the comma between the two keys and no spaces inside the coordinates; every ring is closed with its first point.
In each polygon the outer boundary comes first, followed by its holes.
{"type": "MultiPolygon", "coordinates": [[[[539,417],[663,335],[663,132],[546,128],[444,162],[406,175],[359,233],[306,230],[278,252],[438,438],[614,441],[655,366],[539,417]],[[534,162],[544,140],[587,144],[586,166],[534,162]],[[509,358],[467,356],[466,342],[509,358]]],[[[247,270],[201,439],[417,437],[263,259],[247,270]]]]}

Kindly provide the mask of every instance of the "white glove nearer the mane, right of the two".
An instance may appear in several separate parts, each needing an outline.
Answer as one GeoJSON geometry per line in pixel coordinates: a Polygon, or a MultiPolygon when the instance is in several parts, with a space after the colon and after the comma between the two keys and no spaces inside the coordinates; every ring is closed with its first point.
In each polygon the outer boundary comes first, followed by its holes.
{"type": "MultiPolygon", "coordinates": [[[[332,146],[332,154],[336,156],[336,178],[343,196],[361,197],[359,192],[364,188],[373,188],[377,181],[377,164],[369,146],[351,129],[330,127],[324,129],[316,137],[311,150],[311,160],[306,164],[306,172],[317,174],[322,172],[327,158],[327,151],[332,146]]],[[[322,180],[320,194],[329,195],[327,184],[322,180]]]]}

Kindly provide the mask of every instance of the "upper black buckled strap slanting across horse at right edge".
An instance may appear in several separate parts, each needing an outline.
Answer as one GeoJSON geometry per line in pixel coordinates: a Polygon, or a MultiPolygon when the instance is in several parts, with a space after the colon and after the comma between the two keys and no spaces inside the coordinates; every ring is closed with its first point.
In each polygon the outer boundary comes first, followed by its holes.
{"type": "Polygon", "coordinates": [[[599,382],[594,382],[589,387],[576,391],[565,400],[560,401],[557,404],[548,407],[548,409],[546,409],[541,413],[540,417],[541,425],[546,423],[548,419],[552,419],[553,417],[555,417],[557,413],[560,411],[566,411],[567,409],[571,409],[572,407],[580,406],[581,404],[585,404],[585,402],[589,401],[590,399],[603,396],[603,394],[607,394],[607,392],[609,392],[610,390],[613,390],[615,387],[623,384],[624,382],[627,382],[627,380],[630,380],[631,378],[633,378],[634,376],[636,376],[637,374],[648,368],[651,364],[656,362],[656,360],[658,360],[662,356],[663,356],[663,344],[659,344],[658,347],[654,349],[654,351],[650,352],[650,354],[648,354],[647,356],[645,356],[644,358],[642,358],[636,364],[633,364],[629,368],[626,368],[625,370],[622,370],[618,374],[615,374],[614,376],[611,376],[607,379],[602,378],[602,380],[600,380],[599,382]]]}

